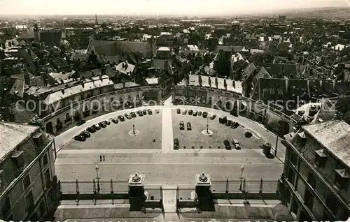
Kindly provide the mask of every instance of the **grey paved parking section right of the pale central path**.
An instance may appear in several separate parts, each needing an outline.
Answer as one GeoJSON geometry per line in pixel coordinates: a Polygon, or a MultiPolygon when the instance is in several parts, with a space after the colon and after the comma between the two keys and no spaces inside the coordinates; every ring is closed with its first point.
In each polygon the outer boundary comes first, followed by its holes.
{"type": "MultiPolygon", "coordinates": [[[[199,149],[202,146],[202,149],[208,149],[209,146],[211,149],[225,149],[223,140],[229,140],[232,142],[233,139],[238,140],[241,144],[241,149],[259,149],[259,145],[263,142],[254,136],[251,138],[246,138],[244,133],[246,129],[243,126],[238,128],[231,128],[230,126],[225,126],[225,124],[220,124],[216,117],[211,120],[208,119],[209,129],[213,131],[213,135],[203,135],[202,131],[207,129],[207,119],[201,116],[189,115],[186,114],[177,114],[176,110],[172,110],[172,124],[173,124],[173,133],[174,138],[179,139],[179,149],[199,149]],[[180,121],[183,121],[185,124],[185,129],[180,130],[180,121]],[[192,130],[188,131],[186,124],[190,122],[192,130]],[[220,147],[220,148],[219,148],[220,147]]],[[[210,117],[210,114],[208,115],[210,117]]],[[[232,147],[232,143],[231,143],[232,147]]],[[[235,149],[232,147],[232,151],[235,149]]]]}

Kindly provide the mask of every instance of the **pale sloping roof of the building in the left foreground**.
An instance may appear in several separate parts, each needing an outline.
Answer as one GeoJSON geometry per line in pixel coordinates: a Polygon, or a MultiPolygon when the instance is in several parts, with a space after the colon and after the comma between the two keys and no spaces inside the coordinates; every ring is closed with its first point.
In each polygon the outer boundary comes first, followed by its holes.
{"type": "Polygon", "coordinates": [[[39,127],[0,121],[0,160],[39,127]]]}

